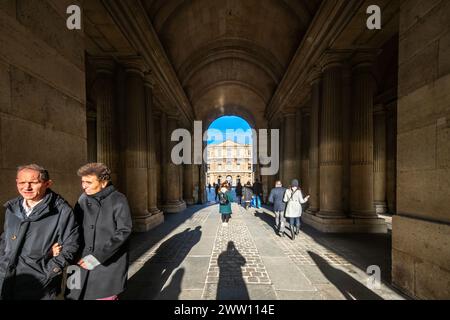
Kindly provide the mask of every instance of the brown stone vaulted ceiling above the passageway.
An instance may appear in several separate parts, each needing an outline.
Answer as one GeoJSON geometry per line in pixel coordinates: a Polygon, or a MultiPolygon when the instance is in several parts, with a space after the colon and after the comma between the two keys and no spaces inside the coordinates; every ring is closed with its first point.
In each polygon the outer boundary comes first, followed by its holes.
{"type": "Polygon", "coordinates": [[[142,0],[197,118],[257,123],[319,2],[142,0]]]}

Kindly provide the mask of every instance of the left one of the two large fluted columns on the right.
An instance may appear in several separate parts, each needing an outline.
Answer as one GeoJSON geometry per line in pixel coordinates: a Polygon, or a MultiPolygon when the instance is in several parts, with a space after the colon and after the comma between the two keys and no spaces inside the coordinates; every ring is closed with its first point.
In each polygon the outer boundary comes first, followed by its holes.
{"type": "Polygon", "coordinates": [[[320,115],[320,213],[323,218],[345,217],[343,212],[343,63],[339,54],[322,61],[323,92],[320,115]]]}

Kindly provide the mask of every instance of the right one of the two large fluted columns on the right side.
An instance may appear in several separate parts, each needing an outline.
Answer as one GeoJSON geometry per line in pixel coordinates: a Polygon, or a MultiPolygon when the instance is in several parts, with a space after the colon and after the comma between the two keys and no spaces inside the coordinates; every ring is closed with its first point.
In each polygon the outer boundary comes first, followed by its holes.
{"type": "Polygon", "coordinates": [[[353,101],[351,125],[350,208],[353,217],[373,218],[373,97],[371,73],[375,55],[353,57],[353,101]]]}

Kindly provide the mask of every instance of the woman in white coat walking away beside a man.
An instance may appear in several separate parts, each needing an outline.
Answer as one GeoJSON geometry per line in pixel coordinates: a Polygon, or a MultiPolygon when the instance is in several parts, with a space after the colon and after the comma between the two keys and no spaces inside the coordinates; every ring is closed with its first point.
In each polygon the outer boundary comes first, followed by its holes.
{"type": "Polygon", "coordinates": [[[300,229],[300,217],[302,216],[302,204],[308,202],[309,196],[303,198],[298,180],[292,180],[291,187],[284,193],[283,201],[286,202],[286,219],[289,218],[292,240],[298,235],[300,229]]]}

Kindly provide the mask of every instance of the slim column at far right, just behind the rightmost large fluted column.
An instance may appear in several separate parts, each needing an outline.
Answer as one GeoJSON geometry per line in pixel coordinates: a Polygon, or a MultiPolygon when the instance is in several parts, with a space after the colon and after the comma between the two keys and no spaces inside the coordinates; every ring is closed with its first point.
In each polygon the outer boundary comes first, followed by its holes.
{"type": "Polygon", "coordinates": [[[374,180],[373,198],[377,213],[386,213],[386,111],[383,105],[374,109],[374,180]]]}

